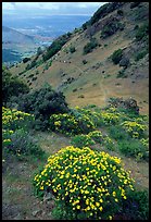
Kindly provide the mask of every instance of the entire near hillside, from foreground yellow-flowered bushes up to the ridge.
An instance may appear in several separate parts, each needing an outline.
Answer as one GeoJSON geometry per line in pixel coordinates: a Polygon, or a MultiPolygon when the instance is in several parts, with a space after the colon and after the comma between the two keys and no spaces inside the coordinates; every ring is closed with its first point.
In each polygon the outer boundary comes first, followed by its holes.
{"type": "Polygon", "coordinates": [[[3,220],[149,219],[148,7],[2,67],[3,220]]]}

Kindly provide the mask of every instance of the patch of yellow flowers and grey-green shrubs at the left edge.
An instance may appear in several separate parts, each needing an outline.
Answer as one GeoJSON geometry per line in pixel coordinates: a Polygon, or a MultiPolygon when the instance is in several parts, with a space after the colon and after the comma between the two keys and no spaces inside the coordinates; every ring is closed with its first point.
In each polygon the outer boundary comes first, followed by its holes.
{"type": "Polygon", "coordinates": [[[20,159],[23,156],[41,158],[43,151],[34,141],[29,130],[34,123],[34,116],[8,108],[2,108],[2,148],[5,158],[13,153],[20,159]]]}

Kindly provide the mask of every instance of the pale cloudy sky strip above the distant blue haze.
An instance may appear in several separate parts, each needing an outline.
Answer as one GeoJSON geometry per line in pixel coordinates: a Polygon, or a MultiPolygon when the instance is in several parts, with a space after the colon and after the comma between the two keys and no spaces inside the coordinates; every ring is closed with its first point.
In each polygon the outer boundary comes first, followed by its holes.
{"type": "Polygon", "coordinates": [[[88,14],[106,2],[2,2],[2,14],[88,14]]]}

